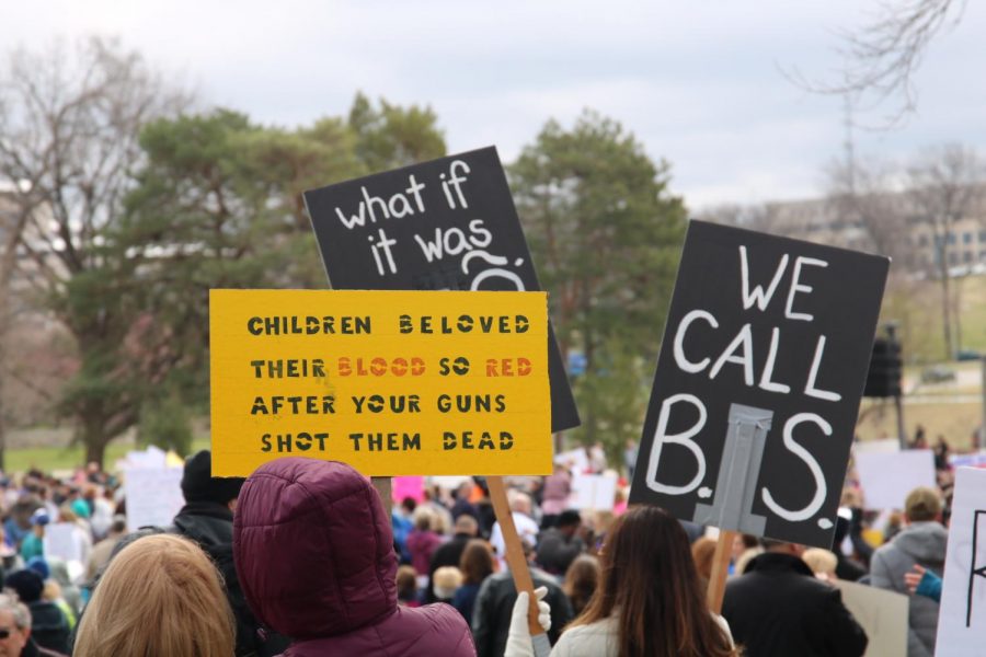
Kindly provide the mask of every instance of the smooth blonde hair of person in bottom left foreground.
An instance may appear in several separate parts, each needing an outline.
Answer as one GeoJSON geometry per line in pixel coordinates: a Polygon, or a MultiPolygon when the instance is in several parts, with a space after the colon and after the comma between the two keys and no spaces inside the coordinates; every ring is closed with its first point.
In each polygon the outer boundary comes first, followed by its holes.
{"type": "Polygon", "coordinates": [[[192,541],[153,534],[106,567],[73,655],[231,657],[233,618],[219,572],[192,541]]]}

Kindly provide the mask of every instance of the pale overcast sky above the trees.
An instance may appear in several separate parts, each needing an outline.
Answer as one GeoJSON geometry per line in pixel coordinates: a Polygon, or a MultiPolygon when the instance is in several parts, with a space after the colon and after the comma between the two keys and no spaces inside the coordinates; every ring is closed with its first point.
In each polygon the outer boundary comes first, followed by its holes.
{"type": "MultiPolygon", "coordinates": [[[[897,0],[890,0],[897,2],[897,0]]],[[[956,0],[958,1],[958,0],[956,0]]],[[[782,73],[824,79],[838,31],[876,0],[0,0],[0,46],[119,36],[208,103],[293,126],[347,111],[362,90],[431,105],[451,152],[505,161],[548,118],[592,107],[620,120],[691,208],[824,193],[842,152],[842,101],[782,73]]],[[[918,113],[857,131],[863,155],[905,159],[959,141],[986,150],[986,8],[935,41],[918,113]]],[[[878,123],[880,114],[858,118],[878,123]]]]}

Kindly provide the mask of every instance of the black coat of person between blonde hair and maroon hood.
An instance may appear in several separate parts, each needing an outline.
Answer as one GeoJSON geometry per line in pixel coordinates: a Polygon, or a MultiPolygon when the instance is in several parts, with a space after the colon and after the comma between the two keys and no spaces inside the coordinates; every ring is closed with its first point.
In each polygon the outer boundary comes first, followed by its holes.
{"type": "Polygon", "coordinates": [[[174,517],[173,531],[198,544],[222,575],[226,598],[237,622],[238,657],[280,654],[288,641],[260,627],[240,589],[232,554],[232,511],[214,502],[191,502],[174,517]]]}

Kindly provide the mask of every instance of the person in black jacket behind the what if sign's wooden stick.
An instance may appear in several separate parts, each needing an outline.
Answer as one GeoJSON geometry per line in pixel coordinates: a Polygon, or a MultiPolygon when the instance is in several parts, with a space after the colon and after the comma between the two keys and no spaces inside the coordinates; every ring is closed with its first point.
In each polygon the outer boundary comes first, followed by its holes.
{"type": "MultiPolygon", "coordinates": [[[[516,514],[515,514],[516,515],[516,514]]],[[[548,639],[553,645],[562,629],[572,620],[572,603],[554,577],[537,568],[530,562],[534,549],[527,541],[520,542],[530,567],[530,578],[535,587],[547,589],[546,602],[551,607],[551,629],[548,639]]],[[[506,637],[511,627],[514,602],[517,589],[513,575],[504,569],[486,577],[475,596],[472,610],[472,636],[475,639],[475,652],[479,657],[501,657],[506,647],[506,637]]]]}

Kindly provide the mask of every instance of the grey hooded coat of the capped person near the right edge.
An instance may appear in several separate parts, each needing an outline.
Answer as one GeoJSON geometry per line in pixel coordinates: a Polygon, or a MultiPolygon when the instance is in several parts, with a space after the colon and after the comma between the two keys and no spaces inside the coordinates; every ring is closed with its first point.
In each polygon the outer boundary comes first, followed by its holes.
{"type": "MultiPolygon", "coordinates": [[[[894,540],[873,553],[870,561],[872,586],[908,595],[904,574],[915,564],[941,576],[949,532],[938,522],[914,522],[894,540]]],[[[938,635],[938,602],[912,596],[908,612],[907,657],[931,657],[938,635]]]]}

